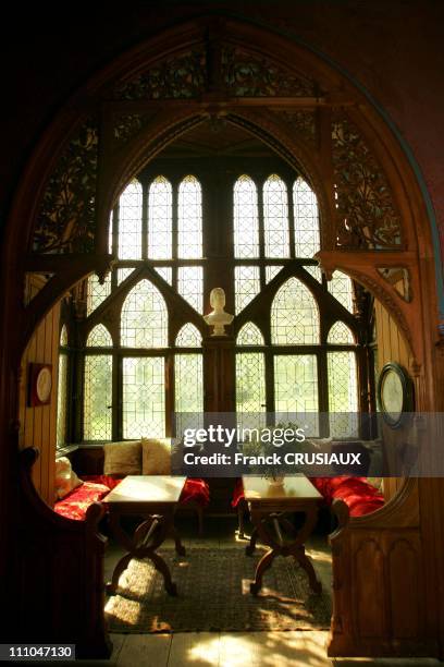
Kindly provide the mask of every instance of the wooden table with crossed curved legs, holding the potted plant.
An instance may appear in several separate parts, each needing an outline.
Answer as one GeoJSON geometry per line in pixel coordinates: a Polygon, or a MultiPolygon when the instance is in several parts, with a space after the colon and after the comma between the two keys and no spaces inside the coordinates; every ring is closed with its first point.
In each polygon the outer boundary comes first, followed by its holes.
{"type": "Polygon", "coordinates": [[[316,525],[321,494],[305,475],[285,477],[283,486],[270,486],[262,477],[249,476],[243,477],[243,483],[245,500],[254,524],[246,554],[254,554],[258,537],[270,547],[256,568],[250,592],[256,595],[260,591],[263,573],[276,556],[293,556],[307,572],[314,593],[321,593],[322,584],[317,579],[304,546],[316,525]],[[286,517],[293,512],[305,514],[304,525],[298,530],[286,517]]]}

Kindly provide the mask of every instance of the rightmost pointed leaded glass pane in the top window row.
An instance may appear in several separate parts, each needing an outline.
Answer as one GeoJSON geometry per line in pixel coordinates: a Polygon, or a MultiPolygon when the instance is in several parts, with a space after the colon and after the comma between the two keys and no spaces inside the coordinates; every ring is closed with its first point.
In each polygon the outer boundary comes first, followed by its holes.
{"type": "Polygon", "coordinates": [[[321,250],[319,240],[318,201],[300,177],[293,185],[296,257],[312,257],[321,250]]]}

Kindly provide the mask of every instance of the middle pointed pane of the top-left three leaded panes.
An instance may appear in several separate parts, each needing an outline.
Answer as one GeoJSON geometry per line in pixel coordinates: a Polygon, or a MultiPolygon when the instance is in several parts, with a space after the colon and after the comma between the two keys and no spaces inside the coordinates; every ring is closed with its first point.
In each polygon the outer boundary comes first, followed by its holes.
{"type": "Polygon", "coordinates": [[[157,177],[148,191],[148,257],[171,259],[172,187],[164,177],[157,177]]]}

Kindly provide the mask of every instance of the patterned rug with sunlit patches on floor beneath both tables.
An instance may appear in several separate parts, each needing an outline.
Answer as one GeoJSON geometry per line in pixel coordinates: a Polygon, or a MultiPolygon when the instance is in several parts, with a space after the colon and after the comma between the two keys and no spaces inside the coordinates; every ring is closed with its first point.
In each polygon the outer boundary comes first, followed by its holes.
{"type": "Polygon", "coordinates": [[[249,592],[256,563],[243,548],[188,548],[186,556],[160,551],[178,595],[163,589],[150,560],[130,562],[118,594],[106,605],[111,632],[211,632],[326,630],[331,601],[314,595],[293,558],[279,557],[256,597],[249,592]]]}

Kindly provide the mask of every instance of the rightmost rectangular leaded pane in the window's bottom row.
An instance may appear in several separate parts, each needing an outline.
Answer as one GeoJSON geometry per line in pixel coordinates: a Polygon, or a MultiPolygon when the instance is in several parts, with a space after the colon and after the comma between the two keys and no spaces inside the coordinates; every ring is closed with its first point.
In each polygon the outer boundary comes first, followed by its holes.
{"type": "Polygon", "coordinates": [[[330,435],[351,436],[358,430],[358,386],[354,352],[329,352],[330,435]]]}

